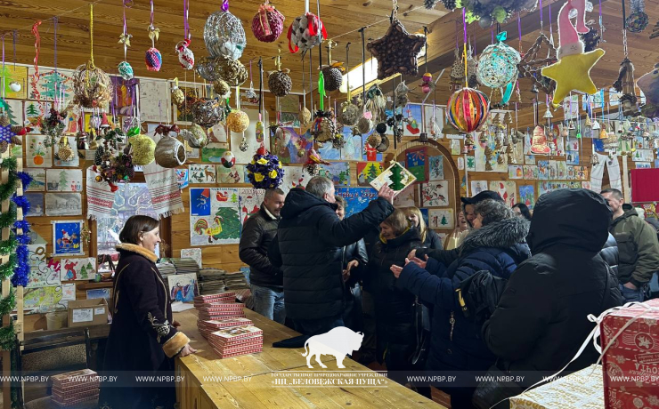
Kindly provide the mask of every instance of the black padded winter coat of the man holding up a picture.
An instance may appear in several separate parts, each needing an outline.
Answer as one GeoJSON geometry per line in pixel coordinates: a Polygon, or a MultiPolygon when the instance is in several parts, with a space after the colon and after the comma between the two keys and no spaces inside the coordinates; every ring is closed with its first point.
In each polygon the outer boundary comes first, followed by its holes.
{"type": "Polygon", "coordinates": [[[301,188],[291,189],[286,196],[268,257],[283,270],[287,317],[317,319],[341,314],[343,247],[360,240],[394,212],[394,206],[379,197],[343,221],[338,220],[336,208],[301,188]]]}

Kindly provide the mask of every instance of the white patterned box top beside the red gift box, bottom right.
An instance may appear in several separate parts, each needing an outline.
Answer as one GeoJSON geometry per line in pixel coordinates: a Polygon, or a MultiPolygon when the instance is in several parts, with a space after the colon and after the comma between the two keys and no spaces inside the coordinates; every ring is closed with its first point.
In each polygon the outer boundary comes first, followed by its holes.
{"type": "Polygon", "coordinates": [[[510,409],[603,409],[602,367],[590,365],[510,398],[510,409]]]}

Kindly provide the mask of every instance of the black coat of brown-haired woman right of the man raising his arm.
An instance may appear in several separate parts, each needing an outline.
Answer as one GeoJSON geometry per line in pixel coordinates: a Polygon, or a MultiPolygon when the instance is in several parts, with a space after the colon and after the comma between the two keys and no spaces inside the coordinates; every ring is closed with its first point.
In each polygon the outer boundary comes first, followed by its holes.
{"type": "Polygon", "coordinates": [[[408,350],[411,355],[416,348],[416,297],[396,287],[397,279],[390,268],[394,264],[403,266],[405,257],[421,245],[419,230],[408,229],[403,235],[386,242],[380,239],[370,259],[367,275],[375,299],[377,357],[380,362],[386,349],[408,350]]]}

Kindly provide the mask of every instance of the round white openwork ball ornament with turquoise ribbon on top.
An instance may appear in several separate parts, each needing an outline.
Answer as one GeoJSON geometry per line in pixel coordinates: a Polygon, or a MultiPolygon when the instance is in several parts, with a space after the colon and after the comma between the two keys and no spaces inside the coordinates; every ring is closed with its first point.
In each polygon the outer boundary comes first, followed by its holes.
{"type": "Polygon", "coordinates": [[[496,44],[490,44],[481,53],[478,60],[476,79],[479,84],[490,88],[500,88],[517,77],[517,64],[522,58],[519,52],[508,44],[506,32],[497,36],[496,44]]]}

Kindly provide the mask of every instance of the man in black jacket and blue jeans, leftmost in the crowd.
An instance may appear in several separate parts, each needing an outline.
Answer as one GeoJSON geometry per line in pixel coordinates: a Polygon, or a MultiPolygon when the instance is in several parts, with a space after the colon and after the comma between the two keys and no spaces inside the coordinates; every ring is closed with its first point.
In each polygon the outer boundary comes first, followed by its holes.
{"type": "Polygon", "coordinates": [[[249,216],[242,228],[239,246],[240,260],[249,266],[254,310],[280,324],[286,320],[283,275],[268,259],[268,247],[277,235],[283,205],[281,188],[265,190],[261,209],[249,216]]]}

